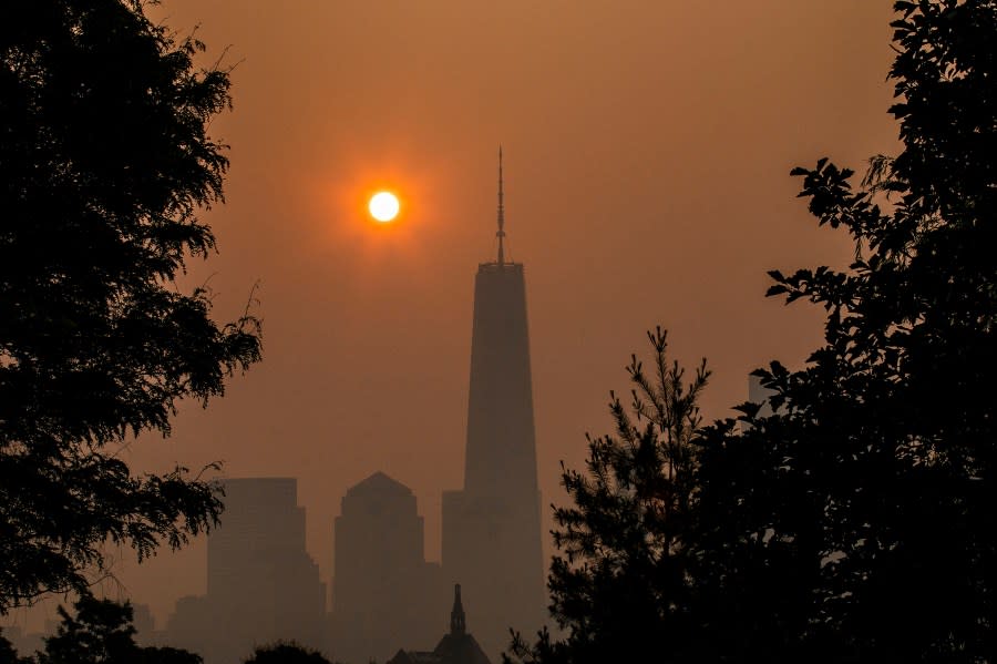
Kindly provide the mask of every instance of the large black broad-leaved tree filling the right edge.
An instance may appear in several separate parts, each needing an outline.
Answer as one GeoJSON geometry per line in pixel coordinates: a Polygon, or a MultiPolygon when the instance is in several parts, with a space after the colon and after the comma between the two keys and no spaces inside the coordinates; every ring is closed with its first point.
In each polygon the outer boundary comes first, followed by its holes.
{"type": "Polygon", "coordinates": [[[847,270],[773,272],[828,311],[699,457],[700,615],[731,660],[997,662],[997,2],[895,2],[903,151],[826,160],[801,196],[847,270]]]}

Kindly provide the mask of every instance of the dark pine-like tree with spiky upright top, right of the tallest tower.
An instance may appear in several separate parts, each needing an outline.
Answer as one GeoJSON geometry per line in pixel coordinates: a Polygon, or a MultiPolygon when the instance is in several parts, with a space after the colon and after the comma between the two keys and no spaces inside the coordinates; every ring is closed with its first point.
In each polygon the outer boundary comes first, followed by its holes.
{"type": "Polygon", "coordinates": [[[682,650],[688,636],[688,530],[692,441],[706,360],[687,384],[669,362],[666,333],[648,333],[648,375],[636,356],[627,410],[610,392],[616,435],[588,438],[585,472],[564,470],[572,505],[554,510],[554,558],[547,585],[563,641],[543,632],[516,639],[526,662],[637,662],[682,650]]]}

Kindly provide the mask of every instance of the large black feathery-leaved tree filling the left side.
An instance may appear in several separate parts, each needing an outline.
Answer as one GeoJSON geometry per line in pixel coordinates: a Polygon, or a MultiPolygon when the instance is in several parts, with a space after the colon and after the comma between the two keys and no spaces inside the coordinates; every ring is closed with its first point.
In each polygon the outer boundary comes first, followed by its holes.
{"type": "Polygon", "coordinates": [[[222,508],[184,468],[133,476],[120,447],[168,435],[260,357],[174,282],[214,251],[199,208],[227,160],[206,133],[229,78],[198,69],[145,0],[33,0],[0,21],[0,614],[105,572],[101,546],[176,548],[222,508]]]}

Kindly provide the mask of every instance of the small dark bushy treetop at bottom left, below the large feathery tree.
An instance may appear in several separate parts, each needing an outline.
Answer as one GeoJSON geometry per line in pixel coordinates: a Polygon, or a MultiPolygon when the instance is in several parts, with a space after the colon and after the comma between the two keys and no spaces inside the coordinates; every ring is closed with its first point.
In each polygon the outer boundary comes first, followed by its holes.
{"type": "Polygon", "coordinates": [[[73,604],[75,615],[59,606],[61,622],[45,639],[39,664],[201,664],[194,653],[172,647],[140,647],[135,643],[132,606],[84,594],[73,604]]]}

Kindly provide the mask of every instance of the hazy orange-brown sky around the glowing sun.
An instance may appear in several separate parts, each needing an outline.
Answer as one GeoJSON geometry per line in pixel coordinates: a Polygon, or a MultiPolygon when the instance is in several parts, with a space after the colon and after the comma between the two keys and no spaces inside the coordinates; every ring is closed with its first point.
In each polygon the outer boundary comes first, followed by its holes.
{"type": "MultiPolygon", "coordinates": [[[[896,149],[890,0],[163,0],[179,34],[233,65],[219,255],[192,263],[216,317],[255,283],[264,361],[191,406],[140,468],[224,461],[290,476],[328,582],[346,489],[382,470],[413,489],[439,560],[440,492],[460,488],[473,279],[506,231],[525,264],[541,488],[610,430],[645,330],[713,370],[707,418],[770,359],[800,366],[820,311],[765,299],[765,272],[841,265],[851,246],[795,198],[794,165],[861,170],[896,149]],[[377,187],[403,212],[364,214],[377,187]]],[[[549,510],[545,509],[545,517],[549,510]]],[[[119,576],[161,625],[204,592],[198,543],[119,576]]],[[[469,606],[469,611],[472,611],[469,606]]],[[[441,624],[441,630],[443,625],[441,624]]]]}

